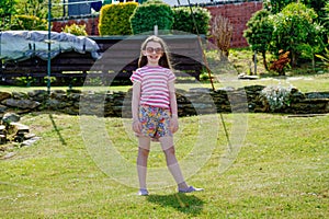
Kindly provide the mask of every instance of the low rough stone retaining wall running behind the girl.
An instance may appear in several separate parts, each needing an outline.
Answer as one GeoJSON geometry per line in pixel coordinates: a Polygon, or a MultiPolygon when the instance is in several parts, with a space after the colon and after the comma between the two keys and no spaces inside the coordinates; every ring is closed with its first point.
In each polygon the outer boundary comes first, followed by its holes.
{"type": "MultiPolygon", "coordinates": [[[[262,85],[241,89],[191,89],[177,90],[179,116],[209,113],[251,112],[269,113],[270,108],[260,97],[262,85]]],[[[8,112],[56,111],[70,115],[88,114],[105,117],[131,117],[132,92],[93,92],[80,90],[34,90],[27,93],[0,92],[0,116],[8,112]]],[[[329,113],[329,92],[291,93],[290,106],[275,113],[325,114],[329,113]]],[[[1,116],[2,117],[2,116],[1,116]]]]}

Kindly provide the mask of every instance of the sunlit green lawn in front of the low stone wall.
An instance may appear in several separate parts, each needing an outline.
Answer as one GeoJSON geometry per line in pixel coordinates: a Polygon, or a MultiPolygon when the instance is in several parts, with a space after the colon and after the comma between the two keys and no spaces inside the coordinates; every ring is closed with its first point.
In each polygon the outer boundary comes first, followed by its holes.
{"type": "MultiPolygon", "coordinates": [[[[31,147],[18,149],[10,159],[0,160],[0,218],[328,218],[329,217],[329,116],[288,117],[272,114],[224,114],[232,131],[230,139],[242,137],[232,165],[219,172],[227,151],[227,139],[219,115],[180,118],[177,135],[179,160],[191,154],[197,141],[204,147],[215,140],[216,147],[200,171],[188,182],[205,191],[177,194],[175,186],[155,186],[150,196],[139,197],[136,182],[117,181],[106,173],[91,146],[83,139],[99,138],[90,124],[90,132],[80,117],[54,113],[29,114],[22,123],[42,137],[31,147]],[[216,120],[214,119],[216,117],[216,120]],[[234,130],[238,119],[248,126],[234,130]],[[214,120],[214,129],[198,130],[214,120]],[[83,127],[84,130],[81,130],[83,127]],[[216,129],[216,127],[218,129],[216,129]],[[218,131],[218,136],[212,131],[218,131]]],[[[102,122],[111,143],[134,166],[136,139],[129,120],[94,118],[102,122]]],[[[101,124],[101,123],[100,123],[101,124]]],[[[100,131],[101,132],[101,131],[100,131]]],[[[99,141],[103,138],[100,137],[99,141]]],[[[109,142],[101,142],[102,149],[109,142]]],[[[150,153],[151,168],[164,166],[162,152],[150,153]]],[[[97,148],[93,148],[97,150],[97,148]]],[[[100,149],[100,150],[102,150],[100,149]]],[[[208,152],[208,151],[207,151],[208,152]]],[[[105,157],[106,151],[104,151],[105,157]]],[[[4,153],[2,152],[2,155],[4,153]]],[[[102,154],[102,153],[101,153],[102,154]]],[[[109,161],[111,163],[111,161],[109,161]]],[[[134,170],[127,170],[135,171],[134,170]]],[[[122,172],[125,175],[125,172],[122,172]]],[[[167,178],[156,178],[159,184],[167,178]]]]}

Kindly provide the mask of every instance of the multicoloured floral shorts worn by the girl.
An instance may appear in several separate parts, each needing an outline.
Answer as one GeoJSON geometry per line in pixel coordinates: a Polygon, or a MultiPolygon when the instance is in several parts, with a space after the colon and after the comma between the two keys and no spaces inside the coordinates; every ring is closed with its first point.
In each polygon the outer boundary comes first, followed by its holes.
{"type": "Polygon", "coordinates": [[[141,105],[139,106],[139,122],[141,123],[143,136],[149,136],[155,139],[172,136],[169,110],[141,105]]]}

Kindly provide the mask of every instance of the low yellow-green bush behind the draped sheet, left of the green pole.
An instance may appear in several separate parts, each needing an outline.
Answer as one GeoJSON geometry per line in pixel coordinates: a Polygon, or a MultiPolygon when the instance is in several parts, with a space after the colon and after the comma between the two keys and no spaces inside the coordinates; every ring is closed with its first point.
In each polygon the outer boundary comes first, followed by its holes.
{"type": "Polygon", "coordinates": [[[46,31],[48,22],[34,15],[15,15],[11,30],[46,31]]]}

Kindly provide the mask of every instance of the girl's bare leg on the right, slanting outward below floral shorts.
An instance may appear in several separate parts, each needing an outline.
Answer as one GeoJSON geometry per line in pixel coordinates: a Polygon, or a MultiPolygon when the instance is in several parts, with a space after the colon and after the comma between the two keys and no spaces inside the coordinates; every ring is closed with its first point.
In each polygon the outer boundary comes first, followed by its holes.
{"type": "Polygon", "coordinates": [[[167,166],[168,166],[170,173],[172,174],[174,181],[177,182],[179,189],[188,188],[189,186],[185,183],[181,168],[175,158],[175,151],[174,151],[174,147],[173,147],[172,137],[161,137],[159,140],[160,140],[162,150],[166,155],[167,166]]]}

